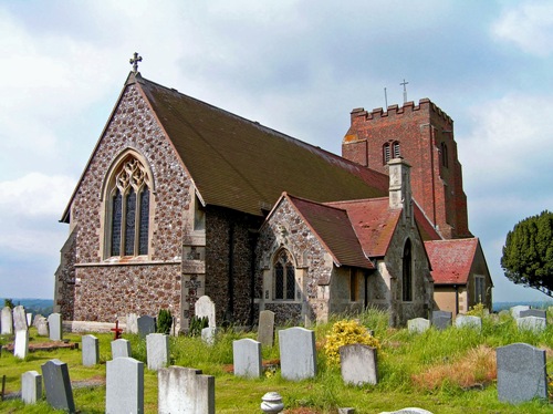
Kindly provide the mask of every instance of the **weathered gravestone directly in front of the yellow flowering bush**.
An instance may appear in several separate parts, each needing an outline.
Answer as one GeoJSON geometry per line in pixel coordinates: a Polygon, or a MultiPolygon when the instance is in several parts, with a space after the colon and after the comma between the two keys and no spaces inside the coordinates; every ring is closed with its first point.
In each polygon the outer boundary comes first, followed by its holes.
{"type": "Polygon", "coordinates": [[[340,346],[340,368],[346,384],[376,385],[378,382],[375,348],[361,343],[340,346]]]}

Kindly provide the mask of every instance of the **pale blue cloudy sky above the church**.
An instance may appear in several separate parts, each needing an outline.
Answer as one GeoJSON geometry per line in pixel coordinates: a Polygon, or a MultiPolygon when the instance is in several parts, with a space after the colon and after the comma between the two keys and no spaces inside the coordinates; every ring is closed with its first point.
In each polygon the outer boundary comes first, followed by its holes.
{"type": "Polygon", "coordinates": [[[356,107],[455,121],[494,301],[549,297],[500,258],[553,209],[553,1],[0,0],[0,298],[53,298],[59,222],[132,70],[341,154],[356,107]]]}

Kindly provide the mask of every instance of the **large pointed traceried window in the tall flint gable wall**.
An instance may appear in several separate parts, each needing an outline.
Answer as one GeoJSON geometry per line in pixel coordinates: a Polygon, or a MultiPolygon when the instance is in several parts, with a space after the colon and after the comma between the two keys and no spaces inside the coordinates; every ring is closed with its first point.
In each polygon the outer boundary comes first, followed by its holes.
{"type": "Polygon", "coordinates": [[[128,155],[114,170],[107,190],[106,256],[148,255],[150,177],[145,166],[128,155]]]}

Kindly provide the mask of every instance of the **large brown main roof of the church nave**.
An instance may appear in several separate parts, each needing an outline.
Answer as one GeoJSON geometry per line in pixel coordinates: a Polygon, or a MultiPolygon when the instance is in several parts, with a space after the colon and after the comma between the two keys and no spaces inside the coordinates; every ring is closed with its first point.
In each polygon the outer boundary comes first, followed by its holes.
{"type": "Polygon", "coordinates": [[[261,206],[272,206],[282,192],[320,203],[387,195],[382,173],[137,80],[208,205],[262,215],[261,206]]]}

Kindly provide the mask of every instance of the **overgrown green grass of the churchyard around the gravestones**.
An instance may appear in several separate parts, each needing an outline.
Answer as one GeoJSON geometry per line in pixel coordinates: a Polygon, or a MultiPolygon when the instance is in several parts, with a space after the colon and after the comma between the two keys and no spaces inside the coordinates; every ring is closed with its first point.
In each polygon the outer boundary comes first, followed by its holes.
{"type": "MultiPolygon", "coordinates": [[[[334,320],[346,318],[337,318],[334,320]]],[[[405,329],[389,329],[388,315],[368,310],[356,315],[372,329],[382,344],[378,353],[379,382],[377,385],[345,386],[340,368],[326,365],[322,352],[332,322],[314,327],[317,348],[317,375],[313,380],[290,382],[280,371],[268,371],[257,380],[232,375],[232,341],[255,338],[251,332],[231,329],[218,334],[212,346],[198,338],[170,338],[170,363],[200,369],[216,377],[217,413],[259,413],[261,396],[276,391],[283,396],[288,413],[337,413],[337,407],[352,406],[356,413],[380,413],[408,406],[419,406],[437,413],[553,413],[547,402],[532,401],[520,405],[501,403],[497,396],[497,346],[526,342],[547,351],[547,371],[553,372],[553,325],[541,333],[519,331],[510,317],[488,317],[481,332],[470,328],[430,329],[409,333],[405,329]]],[[[36,351],[24,361],[6,351],[0,356],[0,375],[7,376],[6,392],[18,392],[21,374],[29,370],[41,372],[41,364],[56,358],[66,362],[74,383],[75,405],[81,413],[103,413],[105,408],[105,362],[111,359],[109,334],[100,339],[101,364],[85,368],[80,350],[36,351]],[[83,386],[84,385],[84,386],[83,386]]],[[[80,342],[79,334],[65,339],[80,342]]],[[[138,335],[124,334],[132,342],[133,356],[146,361],[145,341],[138,335]]],[[[2,343],[10,339],[0,338],[2,343]]],[[[278,340],[278,335],[276,335],[278,340]]],[[[31,343],[45,341],[31,329],[31,343]]],[[[279,346],[264,348],[263,360],[279,359],[279,346]]],[[[145,411],[157,412],[157,375],[145,370],[145,411]]],[[[25,406],[19,400],[0,402],[1,413],[55,413],[44,401],[25,406]]]]}

